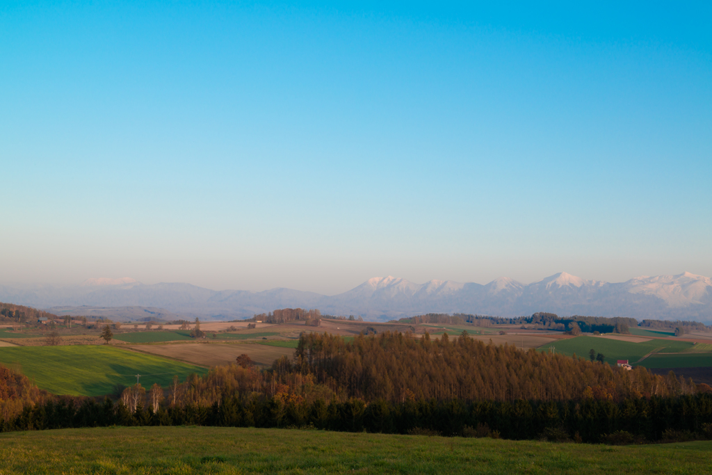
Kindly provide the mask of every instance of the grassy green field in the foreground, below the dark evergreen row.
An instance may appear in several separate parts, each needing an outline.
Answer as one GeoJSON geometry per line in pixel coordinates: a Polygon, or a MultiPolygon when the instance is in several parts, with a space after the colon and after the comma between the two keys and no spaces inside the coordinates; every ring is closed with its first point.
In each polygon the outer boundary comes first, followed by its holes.
{"type": "Polygon", "coordinates": [[[587,444],[229,427],[0,434],[2,474],[701,474],[712,442],[587,444]]]}

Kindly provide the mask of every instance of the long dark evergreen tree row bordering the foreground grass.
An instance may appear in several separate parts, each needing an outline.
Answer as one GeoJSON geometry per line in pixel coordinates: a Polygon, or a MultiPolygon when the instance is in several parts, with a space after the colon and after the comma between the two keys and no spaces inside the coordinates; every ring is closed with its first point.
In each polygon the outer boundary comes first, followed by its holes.
{"type": "Polygon", "coordinates": [[[313,427],[348,432],[442,434],[506,439],[574,439],[603,442],[611,436],[660,441],[712,438],[712,395],[651,399],[542,402],[409,400],[366,403],[232,395],[221,403],[152,404],[133,400],[103,404],[87,399],[48,400],[0,420],[11,430],[98,427],[120,424],[209,425],[227,427],[313,427]]]}

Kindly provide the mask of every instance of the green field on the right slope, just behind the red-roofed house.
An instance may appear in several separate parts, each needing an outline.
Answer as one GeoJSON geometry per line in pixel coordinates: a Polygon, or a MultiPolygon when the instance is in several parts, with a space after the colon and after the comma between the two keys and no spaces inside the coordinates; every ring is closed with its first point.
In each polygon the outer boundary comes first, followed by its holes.
{"type": "MultiPolygon", "coordinates": [[[[540,351],[548,351],[550,347],[555,348],[556,353],[573,355],[587,358],[590,350],[602,353],[606,362],[614,365],[616,360],[628,360],[634,364],[653,350],[665,353],[676,353],[692,348],[693,344],[688,341],[675,340],[649,340],[642,343],[632,343],[629,341],[612,340],[597,336],[577,336],[567,340],[557,340],[547,343],[539,348],[540,351]]],[[[689,355],[689,353],[687,353],[689,355]]],[[[646,360],[643,360],[643,363],[646,360]]]]}

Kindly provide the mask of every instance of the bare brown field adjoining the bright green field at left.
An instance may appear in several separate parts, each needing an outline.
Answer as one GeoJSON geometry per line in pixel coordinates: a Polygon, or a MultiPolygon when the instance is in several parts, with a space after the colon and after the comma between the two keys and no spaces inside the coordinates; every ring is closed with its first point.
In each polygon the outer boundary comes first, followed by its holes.
{"type": "Polygon", "coordinates": [[[269,366],[278,357],[294,355],[293,348],[279,348],[256,343],[170,343],[167,345],[123,345],[122,348],[161,355],[193,365],[227,365],[245,353],[261,366],[269,366]]]}

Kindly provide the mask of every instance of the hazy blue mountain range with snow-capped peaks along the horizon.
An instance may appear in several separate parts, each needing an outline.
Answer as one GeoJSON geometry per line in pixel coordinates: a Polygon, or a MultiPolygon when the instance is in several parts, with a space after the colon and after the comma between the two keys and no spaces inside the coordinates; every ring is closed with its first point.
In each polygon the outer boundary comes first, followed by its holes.
{"type": "Polygon", "coordinates": [[[538,311],[708,321],[712,320],[712,280],[686,272],[609,283],[561,272],[526,285],[507,277],[482,285],[454,281],[417,284],[387,276],[325,296],[288,288],[213,291],[189,283],[149,285],[133,278],[91,278],[68,287],[0,286],[0,301],[58,314],[115,318],[178,315],[231,319],[301,307],[318,308],[330,315],[362,315],[372,321],[430,312],[518,316],[538,311]]]}

